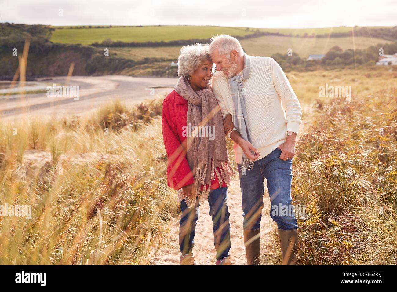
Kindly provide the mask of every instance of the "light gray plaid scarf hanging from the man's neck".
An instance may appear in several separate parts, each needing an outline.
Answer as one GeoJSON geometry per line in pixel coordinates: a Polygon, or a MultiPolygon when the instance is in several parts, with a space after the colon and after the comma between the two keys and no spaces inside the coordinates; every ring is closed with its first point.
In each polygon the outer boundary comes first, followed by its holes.
{"type": "MultiPolygon", "coordinates": [[[[243,81],[247,80],[249,77],[249,73],[251,70],[251,58],[246,53],[244,53],[244,69],[243,69],[243,78],[240,75],[235,75],[229,78],[229,87],[231,97],[233,99],[233,124],[236,130],[240,133],[241,137],[251,142],[251,138],[249,135],[248,128],[248,120],[247,120],[247,110],[245,109],[245,101],[247,95],[242,92],[243,81]]],[[[254,161],[251,161],[248,157],[245,156],[243,152],[243,160],[241,161],[241,168],[245,168],[246,170],[251,170],[254,167],[254,161]]]]}

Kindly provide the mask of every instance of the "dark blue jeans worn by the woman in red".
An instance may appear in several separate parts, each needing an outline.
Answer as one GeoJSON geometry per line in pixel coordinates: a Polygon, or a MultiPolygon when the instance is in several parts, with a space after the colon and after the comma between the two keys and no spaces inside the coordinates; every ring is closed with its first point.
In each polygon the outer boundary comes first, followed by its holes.
{"type": "MultiPolygon", "coordinates": [[[[227,211],[227,187],[220,187],[210,190],[208,195],[210,205],[210,215],[214,227],[214,244],[216,259],[223,259],[229,256],[230,244],[230,224],[229,211],[227,211]]],[[[181,219],[179,220],[179,248],[182,255],[192,254],[195,245],[195,230],[198,219],[200,203],[193,208],[188,208],[185,200],[181,201],[181,219]]]]}

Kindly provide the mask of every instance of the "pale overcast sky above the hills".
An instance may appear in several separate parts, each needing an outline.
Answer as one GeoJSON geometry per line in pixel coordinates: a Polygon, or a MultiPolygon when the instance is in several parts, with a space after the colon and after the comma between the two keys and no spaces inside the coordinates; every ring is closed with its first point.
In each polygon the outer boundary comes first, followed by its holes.
{"type": "Polygon", "coordinates": [[[395,26],[397,0],[0,0],[0,17],[50,25],[395,26]]]}

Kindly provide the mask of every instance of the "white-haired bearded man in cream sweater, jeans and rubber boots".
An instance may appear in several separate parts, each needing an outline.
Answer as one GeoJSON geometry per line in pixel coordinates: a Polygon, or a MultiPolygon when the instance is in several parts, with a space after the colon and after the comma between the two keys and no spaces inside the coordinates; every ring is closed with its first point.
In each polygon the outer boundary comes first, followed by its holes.
{"type": "Polygon", "coordinates": [[[291,180],[302,115],[299,101],[273,58],[247,55],[234,37],[213,37],[209,54],[217,70],[212,91],[224,118],[231,114],[235,126],[228,137],[235,142],[247,263],[259,264],[266,178],[282,262],[296,264],[298,225],[291,205],[291,180]]]}

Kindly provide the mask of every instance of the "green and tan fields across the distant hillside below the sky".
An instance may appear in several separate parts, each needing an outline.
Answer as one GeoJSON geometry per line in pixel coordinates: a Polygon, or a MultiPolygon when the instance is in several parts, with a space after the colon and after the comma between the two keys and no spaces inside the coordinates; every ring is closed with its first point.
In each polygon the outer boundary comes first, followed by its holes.
{"type": "MultiPolygon", "coordinates": [[[[390,27],[368,27],[382,29],[390,27]]],[[[214,27],[214,26],[143,26],[143,27],[82,27],[67,26],[54,27],[50,38],[51,41],[59,43],[81,43],[92,44],[112,40],[121,41],[125,44],[112,46],[111,56],[132,60],[144,58],[176,59],[183,44],[167,44],[163,46],[152,46],[145,44],[143,47],[130,46],[128,43],[146,42],[169,42],[178,40],[200,40],[209,39],[212,35],[226,33],[236,37],[250,35],[251,38],[241,39],[244,50],[254,56],[272,56],[276,53],[285,54],[289,48],[302,58],[309,54],[326,54],[333,46],[339,46],[343,50],[364,49],[377,44],[391,43],[384,35],[367,36],[339,36],[328,37],[330,33],[351,33],[353,27],[325,27],[308,29],[256,29],[244,27],[214,27]],[[255,35],[258,33],[279,33],[282,35],[255,35]],[[253,37],[252,37],[253,36],[253,37]],[[317,36],[317,37],[315,37],[317,36]],[[319,37],[323,36],[323,37],[319,37]],[[324,37],[327,36],[327,37],[324,37]],[[369,37],[371,36],[371,37],[369,37]]],[[[354,35],[364,27],[354,27],[354,35]]],[[[378,31],[377,31],[378,32],[378,31]]],[[[361,32],[362,33],[362,32],[361,32]]],[[[158,44],[157,44],[158,45],[158,44]]],[[[109,48],[110,44],[104,44],[101,50],[109,48]]]]}

